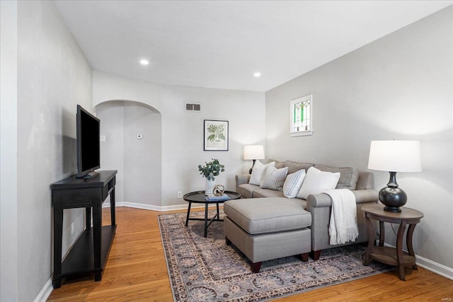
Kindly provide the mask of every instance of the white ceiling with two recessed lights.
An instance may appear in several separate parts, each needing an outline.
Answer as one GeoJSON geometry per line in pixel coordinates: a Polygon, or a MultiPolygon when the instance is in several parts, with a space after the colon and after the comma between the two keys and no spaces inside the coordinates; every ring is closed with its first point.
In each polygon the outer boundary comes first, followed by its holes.
{"type": "Polygon", "coordinates": [[[54,3],[95,70],[171,85],[268,91],[453,1],[54,3]],[[253,76],[257,71],[260,78],[253,76]]]}

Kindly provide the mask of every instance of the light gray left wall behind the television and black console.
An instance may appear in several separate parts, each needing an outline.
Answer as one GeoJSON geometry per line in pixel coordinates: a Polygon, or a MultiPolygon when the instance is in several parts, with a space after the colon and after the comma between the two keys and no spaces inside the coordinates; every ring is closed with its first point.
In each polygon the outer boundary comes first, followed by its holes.
{"type": "MultiPolygon", "coordinates": [[[[4,100],[2,82],[1,109],[3,115],[4,102],[11,102],[8,114],[17,120],[11,119],[4,129],[2,119],[1,143],[3,146],[4,130],[11,141],[17,141],[17,177],[15,173],[3,175],[2,153],[1,208],[8,209],[9,218],[1,219],[1,246],[8,245],[8,251],[1,253],[0,299],[33,301],[53,271],[50,184],[76,172],[76,104],[91,109],[92,71],[52,1],[11,1],[7,5],[17,7],[16,16],[10,16],[17,18],[16,24],[8,28],[17,29],[17,69],[11,70],[17,76],[12,83],[17,98],[9,95],[4,100]],[[6,182],[16,197],[4,199],[6,182]],[[4,231],[9,233],[6,238],[4,231]],[[17,254],[11,253],[14,250],[17,254]]],[[[3,39],[3,1],[1,8],[3,39]]],[[[4,40],[1,42],[3,59],[4,40]]],[[[64,251],[81,231],[84,214],[72,210],[65,215],[64,251]],[[76,231],[71,236],[67,228],[72,221],[76,231]]]]}

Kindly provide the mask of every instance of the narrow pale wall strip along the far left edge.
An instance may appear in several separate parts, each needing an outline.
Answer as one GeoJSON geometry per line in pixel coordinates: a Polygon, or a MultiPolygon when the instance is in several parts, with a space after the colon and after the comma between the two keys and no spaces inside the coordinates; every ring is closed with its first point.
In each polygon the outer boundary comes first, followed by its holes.
{"type": "Polygon", "coordinates": [[[0,1],[0,301],[17,299],[17,3],[0,1]]]}

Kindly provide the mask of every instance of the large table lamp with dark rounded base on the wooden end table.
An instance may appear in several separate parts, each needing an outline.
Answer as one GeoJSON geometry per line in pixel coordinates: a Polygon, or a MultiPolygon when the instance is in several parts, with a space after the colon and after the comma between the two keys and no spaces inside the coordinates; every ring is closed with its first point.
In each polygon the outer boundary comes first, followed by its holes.
{"type": "Polygon", "coordinates": [[[401,212],[407,202],[406,192],[396,183],[396,172],[420,172],[422,170],[419,141],[372,141],[369,148],[368,168],[389,171],[390,180],[379,191],[379,201],[384,211],[401,212]]]}

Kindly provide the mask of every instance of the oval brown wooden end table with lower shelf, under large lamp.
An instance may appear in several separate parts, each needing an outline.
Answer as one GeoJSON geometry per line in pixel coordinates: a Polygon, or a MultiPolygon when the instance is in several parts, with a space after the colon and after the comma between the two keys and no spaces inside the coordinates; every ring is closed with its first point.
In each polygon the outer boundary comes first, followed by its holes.
{"type": "Polygon", "coordinates": [[[406,207],[401,207],[401,212],[399,213],[384,211],[383,204],[367,204],[362,207],[362,211],[365,212],[368,228],[368,248],[363,265],[369,265],[373,259],[386,265],[395,265],[398,267],[399,279],[406,281],[404,267],[410,265],[412,269],[417,269],[412,247],[412,236],[415,225],[423,218],[423,213],[406,207]],[[379,246],[374,245],[374,228],[371,219],[379,221],[379,246]],[[396,248],[384,246],[384,222],[399,224],[396,248]],[[407,225],[409,225],[406,234],[408,252],[404,252],[403,237],[407,225]]]}

